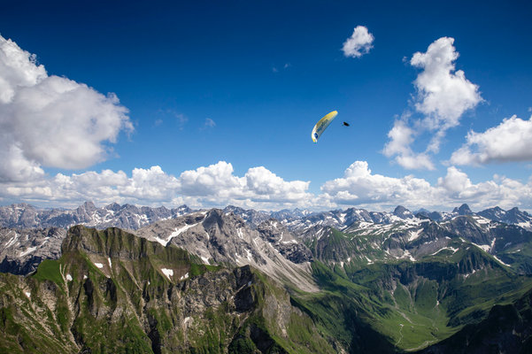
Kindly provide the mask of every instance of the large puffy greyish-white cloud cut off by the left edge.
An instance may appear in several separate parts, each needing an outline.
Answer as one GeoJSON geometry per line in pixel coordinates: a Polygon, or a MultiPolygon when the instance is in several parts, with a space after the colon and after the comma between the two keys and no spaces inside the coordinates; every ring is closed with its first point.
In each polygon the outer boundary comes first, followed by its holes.
{"type": "Polygon", "coordinates": [[[114,94],[48,76],[35,55],[0,36],[0,178],[25,179],[40,165],[77,169],[105,160],[111,152],[105,142],[133,131],[127,113],[114,94]]]}

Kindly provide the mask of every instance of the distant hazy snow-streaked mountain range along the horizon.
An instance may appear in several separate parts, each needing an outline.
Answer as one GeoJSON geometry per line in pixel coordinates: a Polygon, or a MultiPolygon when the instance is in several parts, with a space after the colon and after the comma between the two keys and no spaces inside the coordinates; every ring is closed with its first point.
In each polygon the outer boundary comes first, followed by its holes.
{"type": "MultiPolygon", "coordinates": [[[[329,212],[310,212],[295,209],[293,211],[281,210],[279,212],[259,212],[253,209],[245,210],[229,205],[223,209],[225,213],[232,212],[240,216],[251,228],[267,219],[278,219],[290,231],[297,231],[314,225],[331,226],[335,228],[349,227],[355,221],[366,221],[376,224],[391,224],[403,219],[412,219],[414,213],[399,205],[393,212],[367,212],[365,209],[349,208],[345,211],[336,210],[329,212]]],[[[0,206],[0,227],[18,228],[46,228],[61,227],[68,229],[74,225],[96,227],[120,227],[126,230],[136,230],[148,226],[159,220],[175,219],[197,210],[190,209],[187,205],[167,209],[164,206],[150,208],[148,206],[136,207],[130,204],[109,204],[96,208],[92,202],[86,202],[76,209],[37,209],[30,204],[12,204],[0,206]]],[[[424,215],[435,221],[445,221],[459,215],[478,215],[483,218],[505,222],[506,224],[519,225],[532,230],[532,215],[521,212],[518,208],[504,211],[499,207],[486,209],[482,212],[471,212],[467,204],[454,208],[452,212],[428,212],[420,210],[417,214],[424,215]]]]}

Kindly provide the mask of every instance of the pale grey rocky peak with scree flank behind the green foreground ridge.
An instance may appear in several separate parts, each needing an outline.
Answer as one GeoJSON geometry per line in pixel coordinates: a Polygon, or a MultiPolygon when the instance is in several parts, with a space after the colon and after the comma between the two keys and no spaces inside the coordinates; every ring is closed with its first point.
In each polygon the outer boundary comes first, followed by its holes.
{"type": "MultiPolygon", "coordinates": [[[[135,231],[135,235],[173,244],[187,250],[198,263],[228,266],[250,265],[289,287],[318,291],[312,280],[310,252],[287,232],[287,244],[268,239],[266,229],[276,221],[266,220],[253,230],[243,219],[220,209],[196,212],[178,219],[159,221],[135,231]],[[277,247],[277,248],[276,248],[277,247]],[[283,254],[284,252],[284,254],[283,254]]],[[[281,225],[277,223],[279,227],[281,225]]],[[[281,228],[280,228],[281,229],[281,228]]]]}

